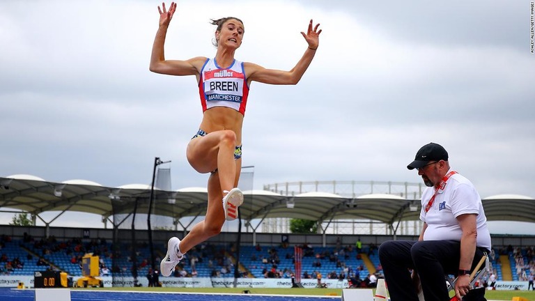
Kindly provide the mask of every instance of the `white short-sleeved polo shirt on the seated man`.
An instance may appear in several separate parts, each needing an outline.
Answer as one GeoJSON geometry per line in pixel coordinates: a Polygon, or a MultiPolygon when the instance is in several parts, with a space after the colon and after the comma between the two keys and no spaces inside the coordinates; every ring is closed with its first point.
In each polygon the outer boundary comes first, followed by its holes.
{"type": "MultiPolygon", "coordinates": [[[[451,169],[449,170],[451,171],[451,169]]],[[[449,173],[448,171],[448,173],[449,173]]],[[[458,240],[463,231],[456,217],[463,214],[476,214],[477,247],[490,250],[490,232],[487,217],[481,203],[481,196],[470,180],[459,173],[453,174],[444,190],[438,190],[433,206],[426,213],[426,206],[435,192],[435,187],[427,187],[421,195],[420,219],[427,224],[424,240],[458,240]]]]}

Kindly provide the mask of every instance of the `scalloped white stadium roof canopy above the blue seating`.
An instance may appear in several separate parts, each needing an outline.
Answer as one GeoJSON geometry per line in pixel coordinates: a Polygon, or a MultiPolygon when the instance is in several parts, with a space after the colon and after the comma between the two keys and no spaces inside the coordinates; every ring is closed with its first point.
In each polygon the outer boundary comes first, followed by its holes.
{"type": "MultiPolygon", "coordinates": [[[[206,214],[207,190],[189,187],[177,191],[153,190],[152,213],[173,217],[198,217],[206,214]]],[[[0,178],[0,210],[21,210],[39,216],[47,211],[79,211],[101,215],[148,213],[150,185],[104,187],[88,180],[53,183],[35,176],[14,175],[0,178]]],[[[345,198],[325,192],[283,196],[265,190],[244,192],[240,207],[242,219],[290,217],[332,222],[335,219],[368,219],[396,226],[403,220],[419,219],[421,203],[393,194],[367,194],[345,198]]],[[[503,194],[483,199],[490,221],[535,222],[535,199],[503,194]]],[[[44,222],[44,221],[43,221],[44,222]]]]}

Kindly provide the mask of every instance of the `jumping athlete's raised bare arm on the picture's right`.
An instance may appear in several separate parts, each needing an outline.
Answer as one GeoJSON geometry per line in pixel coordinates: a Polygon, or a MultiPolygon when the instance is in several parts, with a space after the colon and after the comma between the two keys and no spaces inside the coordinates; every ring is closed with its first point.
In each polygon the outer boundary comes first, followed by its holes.
{"type": "Polygon", "coordinates": [[[249,69],[249,79],[251,81],[262,82],[265,84],[297,84],[304,75],[304,72],[309,68],[310,63],[314,58],[314,54],[316,54],[316,49],[318,49],[318,45],[320,44],[319,36],[321,29],[318,30],[319,26],[319,23],[316,24],[316,26],[313,26],[312,20],[310,20],[307,33],[301,32],[304,40],[309,44],[309,47],[292,70],[283,71],[266,69],[254,63],[247,63],[245,66],[249,69]]]}

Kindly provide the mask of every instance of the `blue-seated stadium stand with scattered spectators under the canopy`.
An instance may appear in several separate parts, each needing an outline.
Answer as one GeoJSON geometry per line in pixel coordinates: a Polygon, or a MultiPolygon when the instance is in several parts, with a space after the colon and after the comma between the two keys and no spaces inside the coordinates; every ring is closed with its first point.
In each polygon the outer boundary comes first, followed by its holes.
{"type": "MultiPolygon", "coordinates": [[[[166,252],[165,244],[157,244],[157,262],[166,252]]],[[[112,266],[111,242],[104,239],[56,240],[53,236],[44,238],[11,239],[0,237],[0,275],[33,275],[36,270],[61,270],[70,276],[82,275],[80,261],[86,253],[100,256],[100,264],[109,268],[109,275],[118,273],[132,275],[132,250],[122,248],[117,266],[112,266]]],[[[362,253],[351,245],[343,247],[319,247],[300,245],[302,258],[302,278],[313,278],[316,273],[324,279],[349,278],[353,275],[364,281],[369,274],[382,277],[382,270],[376,247],[365,246],[362,253]],[[370,266],[371,265],[371,266],[370,266]]],[[[205,243],[188,252],[185,260],[177,265],[173,277],[234,277],[237,249],[234,245],[205,243]]],[[[294,249],[290,245],[242,245],[240,250],[240,277],[289,278],[294,266],[294,249]]],[[[533,247],[503,247],[490,256],[493,272],[499,281],[525,281],[534,273],[533,247]],[[507,272],[510,270],[510,272],[507,272]],[[506,275],[510,273],[510,275],[506,275]]],[[[137,248],[137,275],[145,277],[150,268],[150,252],[146,243],[137,248]]],[[[483,281],[488,275],[483,277],[483,281]]]]}

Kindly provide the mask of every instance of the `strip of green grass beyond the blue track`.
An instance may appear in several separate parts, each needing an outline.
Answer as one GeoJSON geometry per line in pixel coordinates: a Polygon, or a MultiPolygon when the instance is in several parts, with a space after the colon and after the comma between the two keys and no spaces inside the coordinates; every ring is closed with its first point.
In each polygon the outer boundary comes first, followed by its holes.
{"type": "MultiPolygon", "coordinates": [[[[95,291],[140,291],[140,292],[176,292],[176,293],[243,293],[249,291],[258,295],[318,295],[341,296],[340,288],[72,288],[93,289],[95,291]]],[[[487,300],[513,300],[513,297],[522,297],[528,301],[535,301],[535,291],[487,291],[487,300]]]]}

